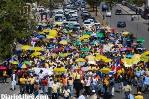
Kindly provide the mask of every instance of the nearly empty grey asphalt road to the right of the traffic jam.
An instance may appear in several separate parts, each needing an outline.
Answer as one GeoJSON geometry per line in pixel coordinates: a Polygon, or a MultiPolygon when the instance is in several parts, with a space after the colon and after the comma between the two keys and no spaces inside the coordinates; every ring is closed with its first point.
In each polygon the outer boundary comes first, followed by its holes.
{"type": "MultiPolygon", "coordinates": [[[[115,10],[121,9],[123,14],[131,14],[132,11],[128,11],[128,9],[123,8],[123,6],[116,5],[112,8],[112,16],[106,17],[106,20],[109,24],[109,26],[115,28],[117,31],[129,31],[137,38],[144,38],[145,43],[144,47],[149,49],[149,31],[148,31],[148,20],[144,20],[141,18],[140,15],[135,15],[135,20],[131,21],[131,15],[115,15],[115,10]],[[125,28],[117,28],[117,21],[125,21],[126,27],[125,28]]],[[[105,15],[105,13],[102,13],[105,15]]]]}

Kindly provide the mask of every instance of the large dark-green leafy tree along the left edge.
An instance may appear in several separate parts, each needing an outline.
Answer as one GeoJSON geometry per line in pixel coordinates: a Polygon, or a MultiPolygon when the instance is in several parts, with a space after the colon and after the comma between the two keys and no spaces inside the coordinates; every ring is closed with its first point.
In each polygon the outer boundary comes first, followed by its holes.
{"type": "Polygon", "coordinates": [[[31,0],[0,0],[0,60],[11,55],[15,39],[31,32],[27,24],[30,19],[22,13],[26,2],[31,0]]]}

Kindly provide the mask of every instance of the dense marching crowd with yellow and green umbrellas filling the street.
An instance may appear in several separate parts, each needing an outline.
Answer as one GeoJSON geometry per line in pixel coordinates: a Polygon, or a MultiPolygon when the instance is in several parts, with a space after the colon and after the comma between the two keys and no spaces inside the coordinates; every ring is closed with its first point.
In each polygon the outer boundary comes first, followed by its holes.
{"type": "Polygon", "coordinates": [[[143,44],[132,33],[40,25],[19,43],[1,75],[4,83],[11,77],[11,90],[19,85],[20,94],[97,99],[119,91],[125,99],[143,99],[149,90],[149,51],[138,48],[143,44]]]}

